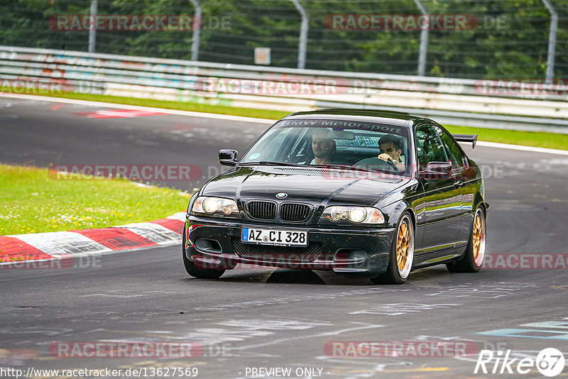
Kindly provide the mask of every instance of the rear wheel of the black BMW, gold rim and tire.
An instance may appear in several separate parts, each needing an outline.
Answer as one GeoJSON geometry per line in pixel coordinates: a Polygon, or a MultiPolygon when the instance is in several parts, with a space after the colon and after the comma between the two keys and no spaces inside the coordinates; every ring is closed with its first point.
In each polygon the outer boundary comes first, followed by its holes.
{"type": "Polygon", "coordinates": [[[447,263],[450,273],[477,273],[484,264],[486,224],[484,208],[479,206],[471,226],[471,234],[463,257],[454,263],[447,263]]]}

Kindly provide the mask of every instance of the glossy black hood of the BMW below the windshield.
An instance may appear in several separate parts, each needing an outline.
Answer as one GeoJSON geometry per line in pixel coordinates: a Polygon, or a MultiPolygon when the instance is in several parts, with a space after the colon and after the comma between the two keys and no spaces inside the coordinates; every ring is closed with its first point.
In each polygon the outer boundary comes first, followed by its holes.
{"type": "Polygon", "coordinates": [[[202,195],[246,202],[252,199],[371,206],[384,195],[403,186],[410,178],[364,171],[320,167],[240,166],[204,186],[202,195]]]}

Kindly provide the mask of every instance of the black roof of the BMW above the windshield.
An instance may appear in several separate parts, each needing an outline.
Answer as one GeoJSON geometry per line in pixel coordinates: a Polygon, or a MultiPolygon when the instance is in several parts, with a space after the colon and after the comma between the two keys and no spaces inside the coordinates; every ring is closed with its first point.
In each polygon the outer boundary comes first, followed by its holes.
{"type": "Polygon", "coordinates": [[[404,112],[383,111],[381,109],[321,109],[318,111],[295,112],[284,119],[336,119],[357,120],[375,123],[388,123],[395,126],[409,127],[413,122],[422,119],[404,112]]]}

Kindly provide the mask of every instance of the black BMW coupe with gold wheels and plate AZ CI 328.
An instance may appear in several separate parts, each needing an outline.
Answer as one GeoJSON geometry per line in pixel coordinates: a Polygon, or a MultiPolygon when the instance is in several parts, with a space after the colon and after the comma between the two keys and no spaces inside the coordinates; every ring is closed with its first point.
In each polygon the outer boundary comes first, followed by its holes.
{"type": "Polygon", "coordinates": [[[182,241],[187,273],[271,266],[368,275],[403,283],[444,263],[476,272],[484,260],[484,180],[430,119],[391,111],[290,114],[192,199],[182,241]]]}

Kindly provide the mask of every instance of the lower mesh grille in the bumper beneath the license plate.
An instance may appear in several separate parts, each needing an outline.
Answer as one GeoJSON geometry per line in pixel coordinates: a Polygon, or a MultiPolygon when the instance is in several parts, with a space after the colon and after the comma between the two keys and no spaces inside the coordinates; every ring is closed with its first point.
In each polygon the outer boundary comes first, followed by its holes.
{"type": "Polygon", "coordinates": [[[322,244],[310,243],[307,247],[268,246],[242,243],[233,238],[233,248],[237,256],[253,260],[271,260],[282,263],[313,262],[322,254],[322,244]]]}

